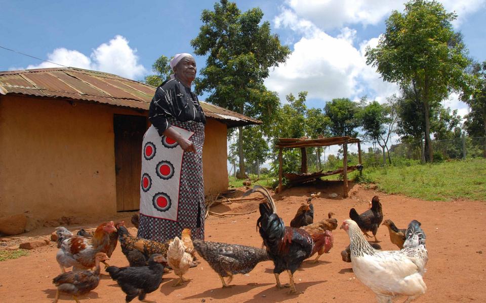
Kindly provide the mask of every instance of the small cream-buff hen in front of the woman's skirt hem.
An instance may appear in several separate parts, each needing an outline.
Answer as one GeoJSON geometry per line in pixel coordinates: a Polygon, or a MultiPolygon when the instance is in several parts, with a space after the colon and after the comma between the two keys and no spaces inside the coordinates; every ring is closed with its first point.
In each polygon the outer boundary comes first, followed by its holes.
{"type": "Polygon", "coordinates": [[[174,270],[174,273],[179,276],[179,280],[173,286],[190,281],[190,279],[184,278],[184,274],[189,270],[192,259],[192,255],[186,252],[186,246],[181,239],[175,237],[169,244],[169,250],[167,251],[167,263],[174,270]]]}

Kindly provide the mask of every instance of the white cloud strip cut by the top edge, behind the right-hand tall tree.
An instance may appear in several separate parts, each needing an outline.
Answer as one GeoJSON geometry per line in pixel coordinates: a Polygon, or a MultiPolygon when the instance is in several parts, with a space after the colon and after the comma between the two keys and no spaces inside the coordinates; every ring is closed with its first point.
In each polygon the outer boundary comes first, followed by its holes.
{"type": "MultiPolygon", "coordinates": [[[[292,17],[289,8],[297,16],[309,20],[322,29],[341,28],[344,25],[376,25],[393,10],[402,12],[403,0],[287,0],[286,7],[278,16],[281,20],[292,17]]],[[[485,0],[442,0],[448,12],[456,12],[454,22],[460,26],[462,20],[471,13],[484,8],[485,0]]]]}

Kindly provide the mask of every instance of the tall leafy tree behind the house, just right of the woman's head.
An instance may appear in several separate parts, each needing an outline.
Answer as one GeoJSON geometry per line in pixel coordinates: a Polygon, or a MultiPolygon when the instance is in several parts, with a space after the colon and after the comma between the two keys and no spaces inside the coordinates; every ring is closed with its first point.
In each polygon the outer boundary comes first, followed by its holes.
{"type": "MultiPolygon", "coordinates": [[[[196,92],[207,91],[208,102],[262,120],[267,130],[279,100],[276,93],[266,90],[263,80],[291,52],[271,33],[270,23],[261,22],[262,17],[259,8],[241,13],[236,4],[220,0],[214,11],[201,14],[203,25],[191,45],[196,55],[208,56],[195,80],[196,92]]],[[[243,128],[239,127],[240,177],[245,176],[242,144],[243,128]]]]}

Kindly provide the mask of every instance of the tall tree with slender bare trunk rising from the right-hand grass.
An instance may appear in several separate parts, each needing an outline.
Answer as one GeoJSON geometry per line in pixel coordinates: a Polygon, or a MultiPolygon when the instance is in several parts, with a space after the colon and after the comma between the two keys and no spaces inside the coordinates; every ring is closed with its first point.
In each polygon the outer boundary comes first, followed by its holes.
{"type": "Polygon", "coordinates": [[[367,64],[377,68],[385,81],[412,85],[423,107],[427,160],[433,160],[430,140],[430,107],[451,91],[468,86],[465,68],[469,60],[461,35],[454,32],[452,21],[435,1],[412,0],[404,13],[394,11],[386,20],[386,31],[376,48],[367,48],[367,64]]]}

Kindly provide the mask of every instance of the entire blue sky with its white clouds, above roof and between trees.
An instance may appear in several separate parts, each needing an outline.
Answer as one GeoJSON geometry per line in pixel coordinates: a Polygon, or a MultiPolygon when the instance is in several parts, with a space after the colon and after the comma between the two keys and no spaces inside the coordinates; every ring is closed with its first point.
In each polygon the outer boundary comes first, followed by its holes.
{"type": "MultiPolygon", "coordinates": [[[[443,0],[455,11],[455,29],[464,35],[470,55],[486,60],[486,0],[443,0]]],[[[203,9],[215,1],[5,1],[0,45],[67,66],[106,71],[135,80],[150,74],[160,56],[192,52],[190,40],[201,25],[203,9]]],[[[307,90],[309,107],[322,108],[335,97],[357,100],[367,95],[384,102],[397,92],[384,83],[363,56],[376,45],[396,0],[236,1],[240,10],[260,7],[264,20],[293,51],[286,64],[265,81],[282,100],[289,92],[307,90]]],[[[196,57],[199,68],[205,58],[196,57]]],[[[55,65],[0,48],[0,70],[55,65]]],[[[204,96],[203,96],[204,98],[204,96]]],[[[452,95],[444,105],[467,113],[452,95]]]]}

